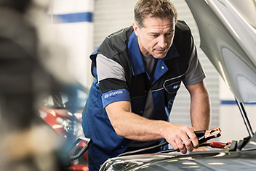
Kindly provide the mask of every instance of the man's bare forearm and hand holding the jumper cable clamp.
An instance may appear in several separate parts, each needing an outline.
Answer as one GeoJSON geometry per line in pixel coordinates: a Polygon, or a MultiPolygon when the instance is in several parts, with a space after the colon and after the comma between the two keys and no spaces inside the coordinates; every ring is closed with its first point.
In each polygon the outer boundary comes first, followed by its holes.
{"type": "Polygon", "coordinates": [[[176,125],[163,120],[148,120],[130,112],[128,101],[119,101],[105,107],[117,135],[135,141],[151,141],[164,138],[175,150],[183,153],[199,146],[194,128],[176,125]],[[185,146],[184,146],[185,145],[185,146]]]}

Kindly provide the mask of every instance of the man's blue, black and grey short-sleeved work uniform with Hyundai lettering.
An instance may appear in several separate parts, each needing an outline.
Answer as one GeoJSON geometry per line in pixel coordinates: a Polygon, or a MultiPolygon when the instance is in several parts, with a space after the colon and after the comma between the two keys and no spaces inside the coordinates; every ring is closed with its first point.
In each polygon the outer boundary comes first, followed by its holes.
{"type": "Polygon", "coordinates": [[[182,21],[176,24],[175,38],[166,57],[155,60],[153,74],[146,70],[132,27],[105,38],[90,59],[95,81],[84,108],[82,126],[85,136],[93,141],[88,154],[95,170],[106,159],[126,151],[132,143],[143,144],[116,134],[105,111],[108,104],[129,101],[133,113],[168,121],[181,82],[188,86],[205,78],[191,30],[182,21]],[[150,112],[146,112],[146,106],[151,107],[150,112]]]}

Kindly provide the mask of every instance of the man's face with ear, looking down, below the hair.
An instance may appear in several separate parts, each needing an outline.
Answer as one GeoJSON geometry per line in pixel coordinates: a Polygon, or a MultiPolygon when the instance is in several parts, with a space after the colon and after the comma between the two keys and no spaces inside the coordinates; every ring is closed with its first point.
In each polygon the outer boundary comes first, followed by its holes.
{"type": "Polygon", "coordinates": [[[148,17],[143,24],[143,28],[139,28],[136,23],[132,24],[140,51],[157,59],[164,58],[175,36],[175,20],[148,17]]]}

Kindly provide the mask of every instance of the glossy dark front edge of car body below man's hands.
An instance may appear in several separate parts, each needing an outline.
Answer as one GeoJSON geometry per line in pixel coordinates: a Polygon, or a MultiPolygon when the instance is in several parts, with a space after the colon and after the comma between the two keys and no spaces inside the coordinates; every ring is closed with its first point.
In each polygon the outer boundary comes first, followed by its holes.
{"type": "Polygon", "coordinates": [[[255,170],[256,146],[243,151],[201,151],[187,155],[143,154],[109,159],[100,171],[127,170],[255,170]]]}

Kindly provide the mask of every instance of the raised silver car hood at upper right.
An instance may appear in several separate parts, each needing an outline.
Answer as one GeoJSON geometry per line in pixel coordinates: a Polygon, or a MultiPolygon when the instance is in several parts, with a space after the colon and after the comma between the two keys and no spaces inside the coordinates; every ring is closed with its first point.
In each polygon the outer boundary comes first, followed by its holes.
{"type": "Polygon", "coordinates": [[[256,101],[256,2],[185,0],[200,47],[240,102],[256,101]]]}

